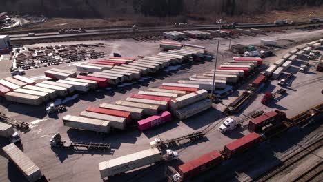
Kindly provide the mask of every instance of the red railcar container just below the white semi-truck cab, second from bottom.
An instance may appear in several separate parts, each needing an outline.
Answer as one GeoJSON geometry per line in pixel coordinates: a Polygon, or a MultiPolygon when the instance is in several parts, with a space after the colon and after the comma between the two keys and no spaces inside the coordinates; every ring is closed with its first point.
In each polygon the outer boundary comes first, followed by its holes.
{"type": "Polygon", "coordinates": [[[244,150],[251,148],[253,145],[260,143],[262,140],[262,137],[253,132],[251,134],[248,134],[240,139],[237,139],[227,145],[224,146],[224,155],[226,157],[231,157],[234,154],[237,154],[239,152],[244,152],[244,150]]]}

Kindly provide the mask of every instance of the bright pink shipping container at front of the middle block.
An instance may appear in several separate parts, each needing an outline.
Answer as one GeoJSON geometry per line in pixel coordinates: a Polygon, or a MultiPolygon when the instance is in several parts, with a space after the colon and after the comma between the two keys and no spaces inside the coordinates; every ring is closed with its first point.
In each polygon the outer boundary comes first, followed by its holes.
{"type": "Polygon", "coordinates": [[[139,130],[144,131],[148,130],[149,128],[153,128],[156,125],[161,125],[162,123],[166,123],[167,121],[172,120],[172,115],[170,112],[165,111],[161,114],[148,117],[146,119],[141,119],[137,122],[137,126],[139,130]]]}

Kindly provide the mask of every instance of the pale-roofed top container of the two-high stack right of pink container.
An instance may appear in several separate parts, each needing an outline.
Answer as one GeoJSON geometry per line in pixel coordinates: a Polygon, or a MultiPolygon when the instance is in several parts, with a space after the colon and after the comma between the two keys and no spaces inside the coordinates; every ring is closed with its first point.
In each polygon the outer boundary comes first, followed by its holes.
{"type": "Polygon", "coordinates": [[[172,99],[170,101],[170,109],[179,110],[184,108],[186,105],[190,105],[192,103],[196,103],[208,97],[208,91],[199,90],[197,92],[193,92],[190,94],[186,94],[182,97],[177,97],[176,99],[172,99]]]}

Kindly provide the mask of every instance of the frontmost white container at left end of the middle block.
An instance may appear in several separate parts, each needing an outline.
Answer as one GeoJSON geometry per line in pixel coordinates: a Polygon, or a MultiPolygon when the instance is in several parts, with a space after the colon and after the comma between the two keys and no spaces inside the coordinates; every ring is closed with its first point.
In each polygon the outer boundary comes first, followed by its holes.
{"type": "Polygon", "coordinates": [[[86,117],[66,115],[65,117],[63,117],[63,124],[70,128],[77,128],[81,130],[89,130],[102,133],[110,132],[110,122],[99,119],[89,119],[86,117]]]}

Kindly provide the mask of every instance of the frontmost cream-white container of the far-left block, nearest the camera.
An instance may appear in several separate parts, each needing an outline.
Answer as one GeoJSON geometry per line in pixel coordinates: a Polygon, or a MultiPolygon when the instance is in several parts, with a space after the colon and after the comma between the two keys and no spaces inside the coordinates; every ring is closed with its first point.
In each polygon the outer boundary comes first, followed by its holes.
{"type": "Polygon", "coordinates": [[[7,101],[12,101],[15,103],[25,103],[28,105],[41,105],[43,103],[43,98],[37,95],[22,94],[18,92],[8,92],[5,94],[7,101]]]}

